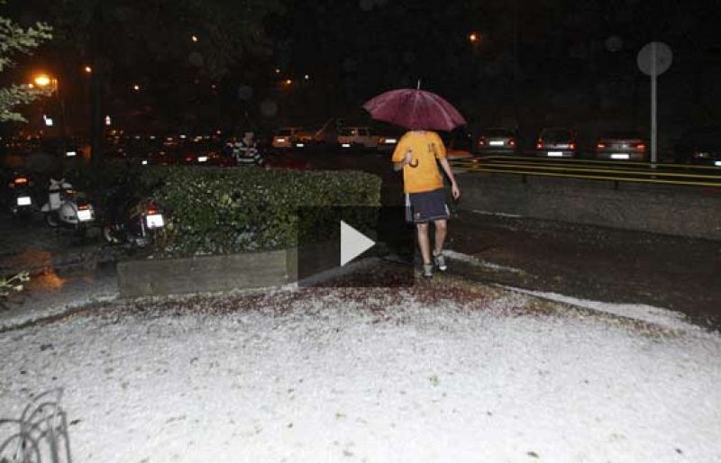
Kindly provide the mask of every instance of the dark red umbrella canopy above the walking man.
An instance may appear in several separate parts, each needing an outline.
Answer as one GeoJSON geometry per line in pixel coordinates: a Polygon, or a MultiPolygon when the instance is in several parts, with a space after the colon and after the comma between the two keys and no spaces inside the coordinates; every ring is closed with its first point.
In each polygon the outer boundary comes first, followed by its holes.
{"type": "Polygon", "coordinates": [[[363,108],[377,121],[406,129],[452,131],[466,125],[461,113],[441,96],[418,88],[390,90],[371,98],[363,108]]]}

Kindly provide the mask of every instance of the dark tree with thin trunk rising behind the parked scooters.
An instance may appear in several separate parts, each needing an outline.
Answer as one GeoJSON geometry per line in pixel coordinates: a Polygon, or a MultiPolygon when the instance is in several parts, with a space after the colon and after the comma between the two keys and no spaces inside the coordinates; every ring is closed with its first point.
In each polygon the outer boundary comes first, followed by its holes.
{"type": "Polygon", "coordinates": [[[23,8],[54,18],[58,46],[65,47],[58,54],[79,57],[92,68],[96,160],[108,104],[132,99],[138,83],[151,95],[138,92],[139,102],[151,99],[175,110],[178,99],[193,95],[196,81],[210,87],[238,63],[248,66],[269,56],[262,21],[282,11],[279,0],[27,0],[23,8]]]}

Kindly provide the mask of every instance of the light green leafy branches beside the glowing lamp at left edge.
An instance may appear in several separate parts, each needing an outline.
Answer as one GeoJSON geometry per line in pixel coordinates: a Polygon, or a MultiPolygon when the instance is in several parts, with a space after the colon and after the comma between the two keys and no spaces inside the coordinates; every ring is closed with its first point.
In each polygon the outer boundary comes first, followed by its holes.
{"type": "MultiPolygon", "coordinates": [[[[5,0],[0,0],[0,5],[5,0]]],[[[44,41],[52,38],[51,28],[45,23],[35,23],[23,28],[11,19],[0,17],[0,73],[12,68],[16,55],[30,55],[44,41]]],[[[0,88],[0,122],[24,122],[23,115],[14,111],[20,104],[28,104],[45,91],[28,85],[12,85],[0,88]]]]}

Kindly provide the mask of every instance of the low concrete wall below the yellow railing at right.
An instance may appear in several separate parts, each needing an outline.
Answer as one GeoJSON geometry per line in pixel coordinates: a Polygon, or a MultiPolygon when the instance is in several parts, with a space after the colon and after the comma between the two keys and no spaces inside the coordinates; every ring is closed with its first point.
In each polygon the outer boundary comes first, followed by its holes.
{"type": "Polygon", "coordinates": [[[721,188],[467,173],[461,209],[721,241],[721,188]]]}

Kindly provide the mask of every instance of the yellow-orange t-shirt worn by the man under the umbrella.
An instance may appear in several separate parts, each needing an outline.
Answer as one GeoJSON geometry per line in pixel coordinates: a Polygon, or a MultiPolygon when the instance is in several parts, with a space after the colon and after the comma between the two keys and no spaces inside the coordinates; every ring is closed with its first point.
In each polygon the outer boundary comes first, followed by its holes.
{"type": "Polygon", "coordinates": [[[403,162],[410,150],[411,165],[403,167],[403,185],[406,193],[422,193],[443,187],[443,177],[436,159],[445,159],[445,146],[436,132],[406,132],[393,151],[393,162],[403,162]],[[417,161],[417,166],[415,162],[417,161]]]}

